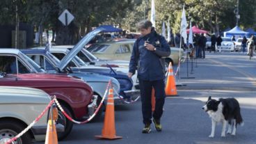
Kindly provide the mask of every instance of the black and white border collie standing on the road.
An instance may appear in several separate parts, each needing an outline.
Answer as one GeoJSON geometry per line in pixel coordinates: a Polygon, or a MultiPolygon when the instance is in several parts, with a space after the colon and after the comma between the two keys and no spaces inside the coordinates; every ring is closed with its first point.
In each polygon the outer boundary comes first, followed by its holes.
{"type": "Polygon", "coordinates": [[[211,134],[209,138],[214,137],[215,127],[218,122],[222,122],[223,124],[221,132],[222,137],[225,137],[227,122],[229,124],[227,134],[232,134],[233,136],[236,135],[237,124],[243,125],[243,118],[241,117],[240,106],[237,99],[227,98],[216,100],[211,99],[211,96],[209,96],[208,101],[202,109],[205,110],[211,118],[211,134]]]}

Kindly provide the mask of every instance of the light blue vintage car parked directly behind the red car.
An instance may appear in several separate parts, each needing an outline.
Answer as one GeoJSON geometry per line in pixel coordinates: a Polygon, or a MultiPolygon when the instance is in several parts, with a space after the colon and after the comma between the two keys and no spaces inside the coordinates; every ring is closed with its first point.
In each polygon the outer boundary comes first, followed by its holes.
{"type": "MultiPolygon", "coordinates": [[[[40,65],[45,71],[48,73],[55,73],[55,74],[70,74],[73,77],[79,77],[86,81],[90,86],[93,87],[94,95],[97,95],[97,106],[99,106],[99,102],[102,101],[102,97],[105,93],[105,88],[108,85],[109,81],[112,81],[113,88],[115,90],[120,91],[120,83],[113,77],[107,77],[100,74],[95,74],[93,72],[73,72],[72,70],[59,70],[59,63],[60,61],[54,55],[52,55],[49,51],[45,49],[22,49],[22,53],[29,56],[35,63],[40,65]]],[[[115,104],[122,104],[122,101],[118,95],[114,94],[115,104]]],[[[107,99],[105,99],[106,101],[107,99]]],[[[105,102],[106,103],[106,102],[105,102]]],[[[97,118],[100,117],[102,111],[99,111],[97,114],[97,118]]]]}

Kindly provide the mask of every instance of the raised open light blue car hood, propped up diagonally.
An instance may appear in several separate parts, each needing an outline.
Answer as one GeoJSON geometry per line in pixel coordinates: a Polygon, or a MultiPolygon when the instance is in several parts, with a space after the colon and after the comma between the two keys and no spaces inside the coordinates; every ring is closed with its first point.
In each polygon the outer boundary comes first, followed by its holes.
{"type": "Polygon", "coordinates": [[[88,42],[90,42],[90,40],[92,40],[95,35],[97,35],[97,33],[103,31],[104,29],[95,29],[93,31],[91,31],[90,33],[88,33],[86,36],[84,36],[78,43],[77,45],[74,46],[73,49],[70,50],[70,52],[64,56],[64,58],[61,60],[61,63],[59,63],[58,67],[60,70],[63,70],[68,63],[70,63],[70,61],[72,60],[72,58],[74,58],[74,56],[77,55],[77,53],[79,51],[81,51],[81,49],[83,49],[83,47],[85,45],[88,44],[88,42]]]}

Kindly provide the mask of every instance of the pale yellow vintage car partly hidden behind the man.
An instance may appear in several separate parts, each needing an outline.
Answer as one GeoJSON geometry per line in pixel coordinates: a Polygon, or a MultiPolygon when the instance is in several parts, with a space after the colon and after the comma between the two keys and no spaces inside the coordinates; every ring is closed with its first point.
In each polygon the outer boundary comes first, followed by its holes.
{"type": "MultiPolygon", "coordinates": [[[[135,41],[136,39],[127,39],[96,43],[90,45],[87,50],[102,60],[130,61],[135,41]]],[[[177,64],[179,62],[179,48],[171,47],[170,50],[171,54],[166,58],[166,63],[177,64]]],[[[181,56],[183,55],[184,51],[181,49],[181,56]]]]}

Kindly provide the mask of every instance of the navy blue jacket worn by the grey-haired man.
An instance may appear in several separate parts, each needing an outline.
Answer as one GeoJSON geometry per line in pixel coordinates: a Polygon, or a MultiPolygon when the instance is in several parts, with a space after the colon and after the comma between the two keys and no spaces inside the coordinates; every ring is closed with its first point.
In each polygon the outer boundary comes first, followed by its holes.
{"type": "Polygon", "coordinates": [[[129,63],[129,72],[135,74],[138,70],[138,78],[145,81],[165,79],[165,63],[162,57],[170,55],[170,47],[163,36],[158,35],[154,29],[151,33],[140,37],[134,43],[129,63]],[[145,41],[154,45],[156,51],[147,50],[145,41]]]}

